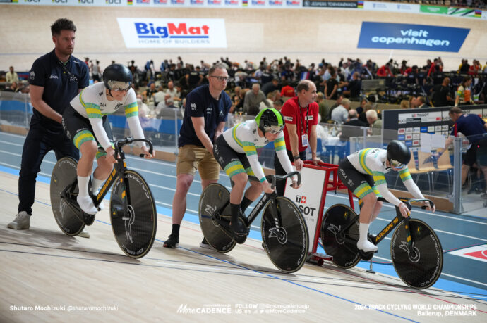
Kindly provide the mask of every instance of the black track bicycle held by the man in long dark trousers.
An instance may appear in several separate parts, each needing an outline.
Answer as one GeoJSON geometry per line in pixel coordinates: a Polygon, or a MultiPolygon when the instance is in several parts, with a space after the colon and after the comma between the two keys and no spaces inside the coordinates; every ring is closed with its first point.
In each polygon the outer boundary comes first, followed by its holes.
{"type": "MultiPolygon", "coordinates": [[[[100,210],[100,203],[112,187],[110,196],[110,220],[112,230],[120,248],[128,257],[141,258],[150,251],[154,243],[157,228],[157,211],[149,185],[138,172],[128,170],[125,153],[122,147],[136,141],[149,144],[146,139],[125,138],[115,142],[114,156],[118,163],[102,184],[95,196],[92,193],[91,181],[89,194],[93,203],[100,210]]],[[[140,154],[140,157],[143,157],[140,154]]],[[[51,205],[54,219],[62,232],[68,236],[76,236],[83,231],[85,225],[95,221],[95,215],[84,213],[80,209],[78,196],[77,162],[71,157],[57,161],[51,177],[51,205]]]]}

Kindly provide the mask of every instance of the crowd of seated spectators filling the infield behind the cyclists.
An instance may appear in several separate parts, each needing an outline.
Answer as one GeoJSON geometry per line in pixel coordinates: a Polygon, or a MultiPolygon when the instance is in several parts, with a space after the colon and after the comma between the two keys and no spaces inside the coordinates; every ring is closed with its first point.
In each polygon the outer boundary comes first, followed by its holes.
{"type": "MultiPolygon", "coordinates": [[[[100,61],[85,58],[85,63],[90,68],[92,82],[99,82],[103,72],[100,61]]],[[[428,59],[422,66],[411,66],[407,60],[399,64],[391,59],[378,64],[371,60],[363,62],[359,58],[342,58],[336,65],[323,59],[306,66],[298,59],[291,61],[286,56],[272,61],[264,57],[258,64],[251,61],[238,63],[221,57],[215,63],[222,63],[227,68],[229,82],[226,91],[232,99],[230,113],[237,115],[257,115],[265,107],[280,110],[284,102],[296,95],[296,84],[300,80],[315,83],[321,122],[344,123],[354,119],[353,111],[349,115],[351,106],[356,106],[356,103],[351,105],[354,101],[360,102],[356,108],[357,118],[375,125],[375,120],[380,120],[380,113],[374,115],[371,112],[371,118],[368,118],[366,112],[378,110],[377,103],[395,103],[400,108],[426,108],[482,102],[487,96],[487,87],[484,86],[487,62],[482,66],[476,59],[462,59],[457,70],[449,72],[443,71],[439,57],[428,59]],[[385,87],[371,93],[363,89],[364,80],[381,78],[385,79],[385,87]]],[[[195,66],[184,63],[181,57],[175,62],[164,60],[160,70],[155,70],[152,60],[141,69],[134,61],[128,63],[140,101],[140,115],[174,118],[175,109],[182,113],[186,95],[199,85],[208,83],[207,73],[211,65],[200,61],[195,66]]],[[[6,73],[6,79],[11,82],[5,83],[4,91],[28,93],[28,83],[18,80],[13,67],[6,73]]]]}

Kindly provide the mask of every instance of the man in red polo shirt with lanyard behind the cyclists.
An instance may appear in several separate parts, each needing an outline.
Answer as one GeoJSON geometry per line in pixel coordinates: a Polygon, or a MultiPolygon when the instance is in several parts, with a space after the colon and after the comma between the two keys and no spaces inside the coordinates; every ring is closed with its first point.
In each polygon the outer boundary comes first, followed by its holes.
{"type": "MultiPolygon", "coordinates": [[[[282,115],[286,121],[284,128],[284,141],[286,142],[287,156],[294,161],[296,170],[301,172],[303,160],[306,160],[306,148],[310,146],[313,163],[318,164],[320,158],[316,156],[316,125],[318,125],[318,103],[316,99],[316,85],[310,80],[302,80],[296,87],[297,96],[291,98],[282,106],[282,115]]],[[[274,156],[276,175],[286,175],[286,171],[274,156]]],[[[276,191],[284,195],[284,181],[276,183],[276,191]]]]}

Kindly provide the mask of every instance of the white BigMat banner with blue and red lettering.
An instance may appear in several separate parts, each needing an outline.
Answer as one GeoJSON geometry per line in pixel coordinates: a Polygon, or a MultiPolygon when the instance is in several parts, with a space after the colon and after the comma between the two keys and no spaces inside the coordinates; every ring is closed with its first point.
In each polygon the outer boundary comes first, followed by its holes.
{"type": "Polygon", "coordinates": [[[127,48],[226,48],[224,19],[116,18],[127,48]]]}

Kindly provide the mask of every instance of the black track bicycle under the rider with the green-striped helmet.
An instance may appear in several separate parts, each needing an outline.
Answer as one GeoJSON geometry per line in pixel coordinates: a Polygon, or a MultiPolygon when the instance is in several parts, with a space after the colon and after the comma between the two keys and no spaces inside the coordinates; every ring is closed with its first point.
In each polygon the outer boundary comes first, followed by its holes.
{"type": "MultiPolygon", "coordinates": [[[[266,179],[275,188],[276,180],[298,175],[267,175],[266,179]]],[[[272,263],[282,272],[296,272],[303,267],[308,255],[308,227],[301,210],[289,198],[278,196],[274,191],[265,193],[248,217],[242,215],[239,220],[250,228],[253,220],[263,210],[261,220],[262,241],[265,252],[272,263]]],[[[230,193],[221,184],[209,184],[200,198],[200,225],[208,244],[220,253],[231,251],[236,243],[244,243],[247,236],[234,236],[230,228],[230,193]]]]}

